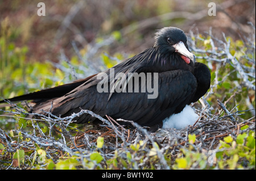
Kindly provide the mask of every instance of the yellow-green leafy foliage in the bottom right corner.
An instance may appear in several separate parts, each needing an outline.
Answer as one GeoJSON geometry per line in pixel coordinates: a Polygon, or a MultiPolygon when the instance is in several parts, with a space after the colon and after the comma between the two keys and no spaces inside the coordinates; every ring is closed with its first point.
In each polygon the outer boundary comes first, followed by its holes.
{"type": "MultiPolygon", "coordinates": [[[[193,145],[193,144],[192,144],[193,145]]],[[[255,169],[255,132],[250,131],[220,140],[214,150],[181,149],[173,169],[255,169]]]]}

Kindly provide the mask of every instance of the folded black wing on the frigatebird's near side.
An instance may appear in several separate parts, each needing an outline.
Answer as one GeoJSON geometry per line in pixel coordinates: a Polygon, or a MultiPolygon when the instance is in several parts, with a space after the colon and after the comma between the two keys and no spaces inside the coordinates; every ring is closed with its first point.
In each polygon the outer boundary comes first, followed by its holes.
{"type": "MultiPolygon", "coordinates": [[[[96,85],[86,88],[80,86],[80,91],[67,95],[72,98],[71,101],[63,102],[60,99],[60,104],[53,108],[53,113],[67,116],[79,112],[82,108],[101,116],[133,120],[141,125],[155,125],[172,113],[183,110],[185,105],[191,102],[197,87],[195,76],[187,70],[159,73],[158,81],[159,94],[156,99],[148,99],[149,92],[114,92],[108,100],[109,93],[97,92],[96,85]]],[[[93,120],[90,115],[83,115],[77,119],[77,123],[93,120]]]]}

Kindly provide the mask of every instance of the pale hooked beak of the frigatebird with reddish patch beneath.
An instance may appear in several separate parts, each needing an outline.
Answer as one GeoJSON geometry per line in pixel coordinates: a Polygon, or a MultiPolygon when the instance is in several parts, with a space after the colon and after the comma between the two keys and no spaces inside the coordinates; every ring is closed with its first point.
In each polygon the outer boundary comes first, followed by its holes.
{"type": "Polygon", "coordinates": [[[181,54],[181,58],[187,64],[189,64],[191,60],[195,64],[195,55],[189,52],[189,50],[185,47],[182,41],[180,41],[179,43],[176,43],[175,45],[173,45],[173,47],[175,48],[175,52],[181,54]]]}

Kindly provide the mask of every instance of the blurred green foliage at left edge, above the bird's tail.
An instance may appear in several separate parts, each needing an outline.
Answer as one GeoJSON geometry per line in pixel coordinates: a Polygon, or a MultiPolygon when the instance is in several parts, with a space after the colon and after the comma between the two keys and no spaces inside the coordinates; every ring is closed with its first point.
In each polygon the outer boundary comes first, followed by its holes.
{"type": "Polygon", "coordinates": [[[50,62],[27,61],[28,47],[11,42],[14,33],[6,18],[0,34],[0,97],[9,98],[61,85],[64,74],[50,62]],[[53,78],[54,77],[54,78],[53,78]]]}

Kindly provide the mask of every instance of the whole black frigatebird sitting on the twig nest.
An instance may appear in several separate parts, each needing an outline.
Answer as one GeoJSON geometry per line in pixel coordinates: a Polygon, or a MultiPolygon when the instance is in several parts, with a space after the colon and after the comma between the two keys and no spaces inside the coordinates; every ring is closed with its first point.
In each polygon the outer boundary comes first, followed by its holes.
{"type": "MultiPolygon", "coordinates": [[[[128,58],[114,67],[115,75],[125,73],[158,73],[158,96],[148,99],[150,92],[98,92],[101,79],[97,75],[38,92],[18,96],[10,101],[34,100],[32,112],[69,116],[82,109],[104,117],[133,120],[151,131],[162,127],[162,120],[179,113],[192,102],[199,100],[210,86],[210,71],[206,65],[195,62],[189,52],[187,37],[179,28],[166,27],[156,32],[153,47],[128,58]]],[[[110,69],[104,71],[110,76],[110,69]]],[[[110,86],[113,80],[109,80],[110,86]]],[[[153,83],[153,80],[151,80],[153,83]]],[[[115,80],[115,83],[117,80],[115,80]]],[[[141,85],[143,82],[139,82],[141,85]]],[[[110,89],[110,88],[109,88],[110,89]]],[[[134,87],[133,87],[134,89],[134,87]]],[[[110,90],[109,90],[110,91],[110,90]]],[[[2,101],[3,102],[3,101],[2,101]]],[[[0,102],[0,103],[2,103],[0,102]]],[[[96,120],[88,114],[77,117],[76,123],[96,120]]]]}

